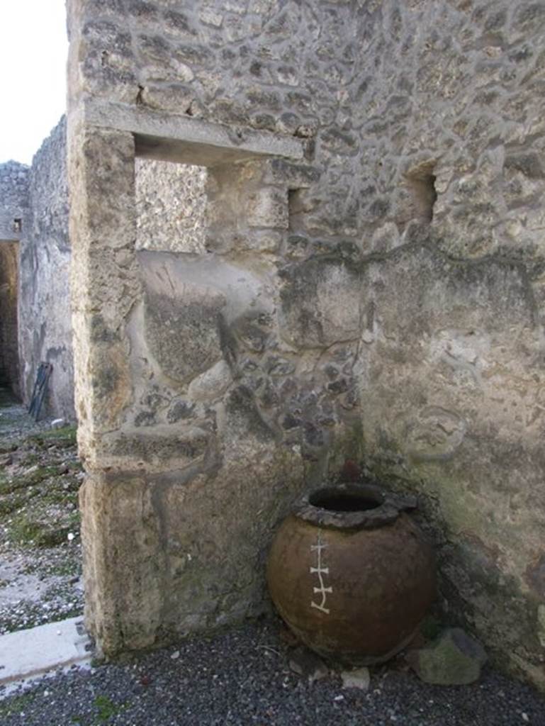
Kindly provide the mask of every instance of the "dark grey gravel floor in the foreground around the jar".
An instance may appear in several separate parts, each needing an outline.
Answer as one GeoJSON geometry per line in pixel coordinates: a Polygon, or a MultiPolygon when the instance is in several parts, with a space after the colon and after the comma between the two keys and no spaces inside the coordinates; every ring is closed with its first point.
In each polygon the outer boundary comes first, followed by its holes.
{"type": "Polygon", "coordinates": [[[419,682],[402,658],[363,692],[290,672],[277,621],[194,638],[125,664],[41,680],[0,701],[2,726],[544,726],[545,700],[485,671],[478,684],[419,682]]]}

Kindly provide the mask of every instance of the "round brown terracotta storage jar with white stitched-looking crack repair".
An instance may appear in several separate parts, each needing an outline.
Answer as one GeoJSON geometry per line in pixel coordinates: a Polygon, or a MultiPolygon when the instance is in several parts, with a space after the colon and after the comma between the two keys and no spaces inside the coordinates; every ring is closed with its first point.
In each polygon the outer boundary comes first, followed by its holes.
{"type": "Polygon", "coordinates": [[[435,596],[433,551],[413,497],[350,484],[303,497],[274,538],[267,581],[300,640],[348,664],[388,660],[435,596]]]}

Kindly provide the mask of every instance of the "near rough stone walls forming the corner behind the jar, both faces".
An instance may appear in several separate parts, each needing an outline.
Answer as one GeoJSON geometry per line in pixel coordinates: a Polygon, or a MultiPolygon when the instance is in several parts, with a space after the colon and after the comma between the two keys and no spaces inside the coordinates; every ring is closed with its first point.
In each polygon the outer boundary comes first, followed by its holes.
{"type": "Polygon", "coordinates": [[[350,458],[421,495],[452,616],[544,687],[545,4],[68,8],[99,643],[258,610],[279,516],[350,458]],[[208,167],[198,244],[135,249],[135,154],[208,167]]]}

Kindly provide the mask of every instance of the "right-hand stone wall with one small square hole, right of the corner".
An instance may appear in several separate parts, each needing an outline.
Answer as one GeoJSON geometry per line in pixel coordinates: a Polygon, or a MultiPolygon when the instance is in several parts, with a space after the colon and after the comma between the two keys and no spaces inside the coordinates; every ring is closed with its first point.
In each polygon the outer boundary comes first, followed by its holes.
{"type": "Polygon", "coordinates": [[[366,464],[427,497],[443,595],[545,684],[545,4],[382,4],[355,374],[366,464]]]}

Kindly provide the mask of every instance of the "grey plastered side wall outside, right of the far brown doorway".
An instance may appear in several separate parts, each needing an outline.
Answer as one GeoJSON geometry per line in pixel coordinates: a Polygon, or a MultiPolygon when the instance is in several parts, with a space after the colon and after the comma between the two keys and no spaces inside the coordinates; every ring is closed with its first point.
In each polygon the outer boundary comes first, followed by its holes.
{"type": "Polygon", "coordinates": [[[66,123],[62,119],[29,174],[28,219],[20,242],[19,338],[22,393],[30,401],[38,365],[52,364],[44,412],[72,420],[66,123]]]}

